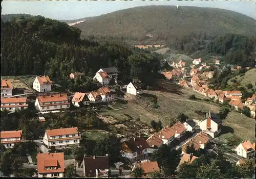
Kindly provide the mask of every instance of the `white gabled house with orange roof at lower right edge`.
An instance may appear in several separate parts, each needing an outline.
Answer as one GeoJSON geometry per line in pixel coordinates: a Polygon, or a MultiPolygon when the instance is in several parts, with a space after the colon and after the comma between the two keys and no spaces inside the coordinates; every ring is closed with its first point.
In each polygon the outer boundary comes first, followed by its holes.
{"type": "Polygon", "coordinates": [[[238,156],[243,158],[252,156],[255,152],[255,143],[251,144],[250,141],[246,140],[237,146],[236,152],[238,156]]]}

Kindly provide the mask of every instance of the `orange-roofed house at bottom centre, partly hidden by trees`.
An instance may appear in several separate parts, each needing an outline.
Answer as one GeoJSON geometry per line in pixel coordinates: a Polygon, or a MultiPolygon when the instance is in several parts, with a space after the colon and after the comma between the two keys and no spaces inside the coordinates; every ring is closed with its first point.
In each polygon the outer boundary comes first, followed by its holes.
{"type": "Polygon", "coordinates": [[[150,174],[152,172],[159,172],[159,166],[158,163],[156,161],[154,162],[139,162],[137,164],[134,165],[134,167],[132,168],[132,171],[136,168],[142,168],[144,173],[142,177],[150,177],[150,174]]]}

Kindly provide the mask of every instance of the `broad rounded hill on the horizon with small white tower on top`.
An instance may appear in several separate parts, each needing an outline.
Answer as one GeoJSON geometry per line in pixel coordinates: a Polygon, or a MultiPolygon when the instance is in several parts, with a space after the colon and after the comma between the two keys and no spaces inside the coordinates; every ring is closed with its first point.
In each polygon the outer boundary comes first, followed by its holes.
{"type": "Polygon", "coordinates": [[[256,21],[237,12],[216,8],[143,6],[100,15],[75,26],[82,30],[82,35],[144,37],[152,34],[155,38],[156,35],[190,33],[254,35],[256,21]]]}

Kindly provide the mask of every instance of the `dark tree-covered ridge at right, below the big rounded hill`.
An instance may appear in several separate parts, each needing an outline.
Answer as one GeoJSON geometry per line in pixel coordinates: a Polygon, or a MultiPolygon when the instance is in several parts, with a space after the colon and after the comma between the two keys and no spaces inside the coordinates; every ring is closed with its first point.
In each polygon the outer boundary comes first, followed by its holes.
{"type": "MultiPolygon", "coordinates": [[[[167,46],[186,55],[222,57],[221,63],[254,67],[255,65],[255,36],[225,34],[217,37],[205,34],[191,33],[181,38],[168,41],[167,46]]],[[[204,58],[204,60],[207,60],[204,58]]]]}

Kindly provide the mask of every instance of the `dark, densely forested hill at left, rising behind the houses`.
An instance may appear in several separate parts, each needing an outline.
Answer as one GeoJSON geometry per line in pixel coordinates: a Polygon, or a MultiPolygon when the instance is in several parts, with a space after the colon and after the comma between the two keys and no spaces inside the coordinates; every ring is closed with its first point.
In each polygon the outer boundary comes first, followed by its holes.
{"type": "Polygon", "coordinates": [[[34,16],[2,22],[1,75],[47,74],[67,80],[72,71],[93,76],[101,67],[119,68],[119,78],[151,82],[162,56],[112,40],[80,40],[80,31],[65,22],[34,16]]]}

